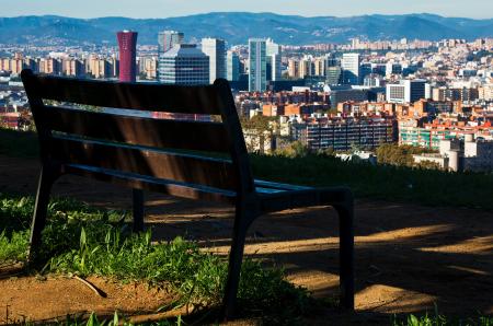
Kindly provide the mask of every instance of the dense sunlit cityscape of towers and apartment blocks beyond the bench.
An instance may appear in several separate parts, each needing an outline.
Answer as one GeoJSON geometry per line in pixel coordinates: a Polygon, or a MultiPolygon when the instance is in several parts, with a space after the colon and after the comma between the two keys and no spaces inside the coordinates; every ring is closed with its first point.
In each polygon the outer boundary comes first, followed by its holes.
{"type": "Polygon", "coordinates": [[[115,35],[118,46],[2,45],[1,123],[32,128],[19,78],[25,68],[186,85],[225,78],[252,151],[300,142],[311,151],[370,160],[376,148],[398,143],[425,149],[413,156],[416,164],[493,168],[493,38],[299,46],[249,38],[230,47],[220,38],[194,44],[185,36],[162,31],[157,45],[138,45],[138,31],[123,31],[115,35]]]}

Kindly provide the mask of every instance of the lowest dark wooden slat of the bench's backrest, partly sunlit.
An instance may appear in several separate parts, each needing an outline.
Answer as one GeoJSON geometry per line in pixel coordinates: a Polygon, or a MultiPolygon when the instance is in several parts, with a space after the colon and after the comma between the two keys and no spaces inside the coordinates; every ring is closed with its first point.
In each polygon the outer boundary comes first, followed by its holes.
{"type": "Polygon", "coordinates": [[[62,136],[54,136],[50,148],[53,159],[61,164],[83,164],[226,190],[236,190],[238,185],[232,163],[227,160],[62,136]]]}

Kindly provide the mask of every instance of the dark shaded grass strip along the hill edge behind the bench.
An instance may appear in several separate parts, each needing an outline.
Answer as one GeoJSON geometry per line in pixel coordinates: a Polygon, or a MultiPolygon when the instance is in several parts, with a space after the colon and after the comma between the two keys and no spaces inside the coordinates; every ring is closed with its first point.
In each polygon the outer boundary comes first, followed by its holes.
{"type": "MultiPolygon", "coordinates": [[[[0,154],[37,158],[37,152],[35,133],[0,128],[0,154]]],[[[252,154],[251,164],[257,178],[320,187],[346,185],[359,198],[493,210],[492,173],[372,166],[316,154],[299,158],[252,154]]]]}

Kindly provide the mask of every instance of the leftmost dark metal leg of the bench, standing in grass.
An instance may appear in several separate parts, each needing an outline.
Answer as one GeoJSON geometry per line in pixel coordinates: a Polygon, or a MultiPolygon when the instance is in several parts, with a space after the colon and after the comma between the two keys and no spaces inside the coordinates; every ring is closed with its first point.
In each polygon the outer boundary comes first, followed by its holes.
{"type": "Polygon", "coordinates": [[[42,244],[42,231],[45,229],[46,216],[48,210],[49,195],[51,186],[57,179],[58,174],[53,168],[42,166],[39,182],[37,185],[36,201],[34,203],[34,214],[31,224],[30,252],[27,253],[27,261],[34,263],[42,244]]]}

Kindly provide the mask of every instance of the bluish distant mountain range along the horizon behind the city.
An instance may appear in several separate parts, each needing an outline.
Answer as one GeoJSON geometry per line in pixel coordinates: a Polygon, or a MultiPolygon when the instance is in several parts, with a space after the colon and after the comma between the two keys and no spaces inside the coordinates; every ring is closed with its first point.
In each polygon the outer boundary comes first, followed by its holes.
{"type": "Polygon", "coordinates": [[[230,45],[249,37],[272,37],[286,45],[346,43],[352,37],[376,39],[493,37],[493,19],[444,18],[435,14],[362,15],[351,18],[279,15],[274,13],[214,12],[169,19],[64,16],[0,18],[1,44],[115,44],[115,32],[139,33],[139,44],[157,44],[158,32],[176,30],[188,40],[211,36],[230,45]]]}

